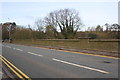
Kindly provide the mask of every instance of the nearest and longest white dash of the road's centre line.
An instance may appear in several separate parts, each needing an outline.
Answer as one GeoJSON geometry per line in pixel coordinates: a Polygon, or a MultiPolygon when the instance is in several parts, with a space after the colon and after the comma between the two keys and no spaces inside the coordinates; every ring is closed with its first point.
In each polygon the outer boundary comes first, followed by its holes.
{"type": "Polygon", "coordinates": [[[85,68],[85,69],[101,72],[101,73],[104,73],[104,74],[108,74],[109,73],[107,71],[103,71],[103,70],[100,70],[100,69],[95,69],[95,68],[91,68],[91,67],[87,67],[87,66],[82,66],[82,65],[79,65],[79,64],[70,63],[70,62],[63,61],[63,60],[58,60],[58,59],[55,59],[55,58],[52,58],[52,60],[58,61],[58,62],[62,62],[62,63],[66,63],[66,64],[70,64],[70,65],[77,66],[77,67],[80,67],[80,68],[85,68]]]}

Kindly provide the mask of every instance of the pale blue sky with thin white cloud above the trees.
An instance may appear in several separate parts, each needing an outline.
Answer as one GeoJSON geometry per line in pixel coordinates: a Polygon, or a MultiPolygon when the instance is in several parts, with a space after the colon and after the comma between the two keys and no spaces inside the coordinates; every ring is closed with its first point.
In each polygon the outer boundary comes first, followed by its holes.
{"type": "Polygon", "coordinates": [[[76,9],[86,27],[118,23],[118,2],[1,2],[2,20],[18,25],[34,25],[49,12],[64,8],[76,9]]]}

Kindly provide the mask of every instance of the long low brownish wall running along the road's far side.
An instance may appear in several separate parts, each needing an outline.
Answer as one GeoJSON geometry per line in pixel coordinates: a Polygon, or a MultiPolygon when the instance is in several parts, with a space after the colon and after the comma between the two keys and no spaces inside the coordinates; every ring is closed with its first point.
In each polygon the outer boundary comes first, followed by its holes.
{"type": "Polygon", "coordinates": [[[73,39],[73,40],[63,39],[63,40],[13,40],[13,43],[32,46],[60,47],[78,50],[79,49],[99,50],[118,53],[118,41],[116,40],[89,41],[89,39],[73,39]]]}

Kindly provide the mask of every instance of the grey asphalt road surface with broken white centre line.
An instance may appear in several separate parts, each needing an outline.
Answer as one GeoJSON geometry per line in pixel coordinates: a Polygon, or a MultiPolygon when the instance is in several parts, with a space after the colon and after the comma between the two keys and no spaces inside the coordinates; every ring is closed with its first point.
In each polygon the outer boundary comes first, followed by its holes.
{"type": "Polygon", "coordinates": [[[118,59],[4,43],[2,56],[30,78],[118,78],[118,59]]]}

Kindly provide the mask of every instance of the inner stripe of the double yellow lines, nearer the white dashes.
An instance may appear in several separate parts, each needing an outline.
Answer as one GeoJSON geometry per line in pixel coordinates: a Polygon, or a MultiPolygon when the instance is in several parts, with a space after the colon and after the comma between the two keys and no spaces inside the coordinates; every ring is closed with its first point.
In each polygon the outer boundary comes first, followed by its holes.
{"type": "MultiPolygon", "coordinates": [[[[18,71],[21,75],[23,75],[26,79],[28,80],[32,80],[30,79],[26,74],[24,74],[20,69],[18,69],[15,65],[13,65],[10,61],[8,61],[6,58],[4,58],[3,56],[1,56],[1,59],[4,60],[4,62],[6,61],[8,63],[8,65],[11,65],[16,71],[18,71]]],[[[24,79],[25,80],[25,79],[24,79]]]]}

